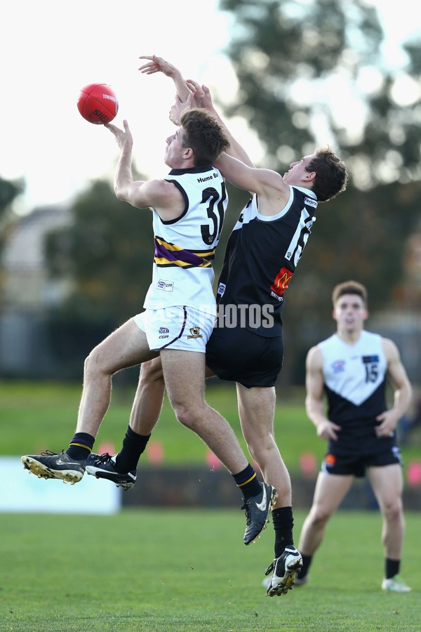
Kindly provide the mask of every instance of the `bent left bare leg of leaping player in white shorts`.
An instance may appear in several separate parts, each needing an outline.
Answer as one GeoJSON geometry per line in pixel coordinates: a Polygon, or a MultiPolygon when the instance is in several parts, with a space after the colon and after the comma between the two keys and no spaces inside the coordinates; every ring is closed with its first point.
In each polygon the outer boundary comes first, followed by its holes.
{"type": "Polygon", "coordinates": [[[95,437],[109,407],[112,375],[153,357],[156,353],[149,350],[145,333],[133,320],[96,346],[85,360],[76,432],[95,437]]]}

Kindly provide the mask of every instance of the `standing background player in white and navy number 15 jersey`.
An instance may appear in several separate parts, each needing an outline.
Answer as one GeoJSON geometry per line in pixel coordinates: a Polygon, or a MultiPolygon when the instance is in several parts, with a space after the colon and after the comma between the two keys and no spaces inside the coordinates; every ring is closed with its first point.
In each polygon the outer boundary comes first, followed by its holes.
{"type": "Polygon", "coordinates": [[[367,475],[383,518],[382,588],[408,592],[410,588],[399,577],[403,479],[395,428],[410,404],[410,383],[394,342],[363,329],[368,317],[366,288],[354,281],[341,283],[333,289],[332,298],[336,333],[307,355],[307,415],[317,435],[328,441],[328,448],[312,508],[302,527],[299,548],[303,567],[295,583],[307,582],[309,565],[330,516],[354,478],[367,475]],[[389,410],[387,379],[394,387],[394,404],[389,410]]]}

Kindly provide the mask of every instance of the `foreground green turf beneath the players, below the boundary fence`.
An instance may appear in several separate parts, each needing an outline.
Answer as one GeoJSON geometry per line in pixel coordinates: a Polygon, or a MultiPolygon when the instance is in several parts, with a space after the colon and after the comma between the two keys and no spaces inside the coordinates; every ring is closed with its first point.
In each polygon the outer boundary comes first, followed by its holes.
{"type": "MultiPolygon", "coordinates": [[[[295,539],[304,518],[295,513],[295,539]]],[[[240,511],[0,515],[0,630],[420,631],[419,515],[408,513],[408,594],[380,590],[380,515],[338,512],[309,584],[268,598],[273,531],[242,543],[240,511]]]]}

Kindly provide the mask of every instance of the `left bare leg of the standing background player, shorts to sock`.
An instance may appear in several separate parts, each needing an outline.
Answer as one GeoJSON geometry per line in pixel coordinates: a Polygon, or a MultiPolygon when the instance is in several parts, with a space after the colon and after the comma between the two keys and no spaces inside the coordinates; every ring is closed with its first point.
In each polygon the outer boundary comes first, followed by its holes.
{"type": "Polygon", "coordinates": [[[313,555],[323,541],[330,516],[338,508],[354,481],[353,475],[319,473],[312,508],[302,525],[298,548],[302,555],[313,555]]]}

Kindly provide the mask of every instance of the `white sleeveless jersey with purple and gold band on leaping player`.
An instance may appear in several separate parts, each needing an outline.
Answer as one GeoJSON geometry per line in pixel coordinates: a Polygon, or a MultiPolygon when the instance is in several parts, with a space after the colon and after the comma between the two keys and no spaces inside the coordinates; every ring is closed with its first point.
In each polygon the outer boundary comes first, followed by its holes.
{"type": "Polygon", "coordinates": [[[215,314],[212,261],[228,204],[224,179],[208,165],[172,169],[164,180],[178,187],[185,209],[170,221],[152,211],[154,267],[144,307],[186,305],[215,314]]]}

